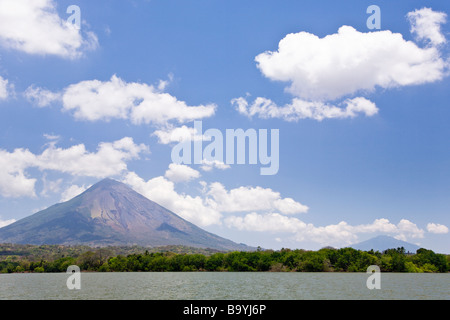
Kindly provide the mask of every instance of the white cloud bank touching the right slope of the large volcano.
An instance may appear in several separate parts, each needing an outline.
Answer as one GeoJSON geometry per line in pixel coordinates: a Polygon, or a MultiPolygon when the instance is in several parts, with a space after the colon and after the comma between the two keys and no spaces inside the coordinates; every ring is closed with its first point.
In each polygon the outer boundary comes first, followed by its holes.
{"type": "MultiPolygon", "coordinates": [[[[167,172],[171,172],[171,168],[167,172]]],[[[199,195],[179,193],[174,181],[167,177],[167,172],[165,177],[159,176],[148,181],[135,172],[128,172],[123,182],[150,200],[200,226],[220,225],[223,216],[229,212],[267,212],[276,209],[283,214],[295,214],[308,210],[307,206],[291,198],[282,198],[279,192],[259,186],[227,190],[219,182],[208,184],[200,181],[202,190],[199,195]]]]}

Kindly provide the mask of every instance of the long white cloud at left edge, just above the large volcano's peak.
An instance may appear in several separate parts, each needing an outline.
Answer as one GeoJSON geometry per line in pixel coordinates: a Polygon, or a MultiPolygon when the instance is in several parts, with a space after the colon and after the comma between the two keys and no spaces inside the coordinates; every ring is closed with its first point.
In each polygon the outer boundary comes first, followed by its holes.
{"type": "Polygon", "coordinates": [[[27,169],[53,170],[73,176],[105,178],[127,170],[127,162],[148,152],[144,144],[135,144],[125,137],[114,142],[101,142],[96,152],[86,150],[84,144],[59,148],[48,144],[41,154],[28,149],[13,152],[0,149],[0,195],[3,197],[34,197],[36,178],[27,169]]]}

